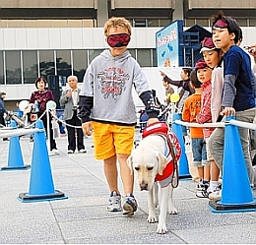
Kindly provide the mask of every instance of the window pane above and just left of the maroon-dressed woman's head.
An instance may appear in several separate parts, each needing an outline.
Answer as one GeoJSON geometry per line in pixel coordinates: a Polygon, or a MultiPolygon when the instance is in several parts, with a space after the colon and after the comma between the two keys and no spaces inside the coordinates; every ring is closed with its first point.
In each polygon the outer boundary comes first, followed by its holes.
{"type": "Polygon", "coordinates": [[[24,84],[33,84],[38,77],[37,51],[23,51],[24,84]]]}

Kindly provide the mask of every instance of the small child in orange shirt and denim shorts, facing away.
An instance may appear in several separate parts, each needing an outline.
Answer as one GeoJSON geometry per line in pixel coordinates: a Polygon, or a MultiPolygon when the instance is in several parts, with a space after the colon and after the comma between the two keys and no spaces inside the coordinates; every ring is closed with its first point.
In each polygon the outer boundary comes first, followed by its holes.
{"type": "MultiPolygon", "coordinates": [[[[197,78],[196,71],[192,71],[190,74],[191,87],[195,90],[195,93],[189,95],[185,101],[182,110],[182,120],[185,122],[196,122],[196,115],[201,110],[201,83],[197,78]]],[[[190,128],[190,139],[191,148],[193,154],[193,164],[198,170],[198,175],[200,178],[197,184],[197,189],[199,191],[205,188],[204,180],[204,166],[207,162],[207,152],[206,152],[206,142],[204,139],[203,128],[190,128]]]]}

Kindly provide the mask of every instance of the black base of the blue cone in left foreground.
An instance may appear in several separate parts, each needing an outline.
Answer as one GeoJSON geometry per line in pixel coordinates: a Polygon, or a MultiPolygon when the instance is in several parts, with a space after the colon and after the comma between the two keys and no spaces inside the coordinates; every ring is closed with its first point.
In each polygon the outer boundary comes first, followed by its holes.
{"type": "Polygon", "coordinates": [[[29,193],[20,193],[18,199],[23,203],[54,201],[60,199],[67,199],[63,192],[55,190],[55,193],[45,195],[30,195],[29,193]]]}

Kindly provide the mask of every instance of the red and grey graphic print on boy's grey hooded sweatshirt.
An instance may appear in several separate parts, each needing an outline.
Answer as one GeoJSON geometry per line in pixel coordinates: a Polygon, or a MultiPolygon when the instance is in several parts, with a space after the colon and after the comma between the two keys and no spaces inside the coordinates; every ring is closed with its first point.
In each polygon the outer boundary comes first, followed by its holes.
{"type": "Polygon", "coordinates": [[[130,76],[118,67],[109,67],[99,72],[97,78],[100,80],[99,90],[104,98],[116,99],[125,90],[125,82],[130,76]]]}

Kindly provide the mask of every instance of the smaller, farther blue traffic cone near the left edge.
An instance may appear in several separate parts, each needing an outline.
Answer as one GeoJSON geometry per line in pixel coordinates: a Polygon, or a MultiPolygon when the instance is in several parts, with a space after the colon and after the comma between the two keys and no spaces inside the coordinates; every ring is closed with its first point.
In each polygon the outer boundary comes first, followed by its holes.
{"type": "MultiPolygon", "coordinates": [[[[15,121],[11,121],[11,127],[17,129],[15,121]]],[[[24,164],[23,154],[19,136],[10,137],[8,165],[1,168],[1,170],[28,170],[31,166],[24,164]]]]}

